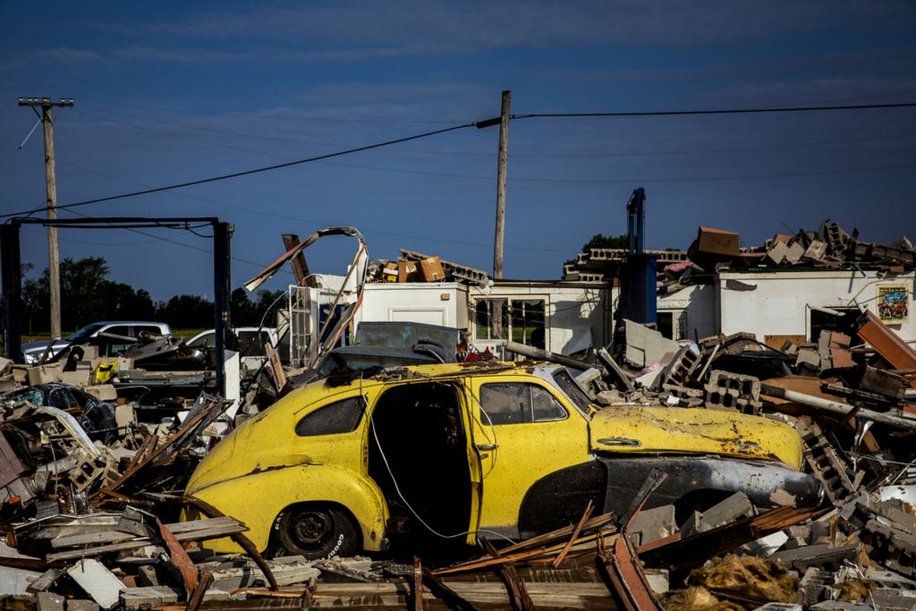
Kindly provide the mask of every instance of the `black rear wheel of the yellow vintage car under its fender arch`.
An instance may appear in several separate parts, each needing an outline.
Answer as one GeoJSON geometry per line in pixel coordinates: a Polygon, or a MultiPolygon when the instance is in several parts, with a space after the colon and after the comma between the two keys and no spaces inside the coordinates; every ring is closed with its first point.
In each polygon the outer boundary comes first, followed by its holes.
{"type": "Polygon", "coordinates": [[[277,520],[278,553],[308,560],[352,556],[358,539],[353,520],[333,507],[290,507],[277,520]]]}

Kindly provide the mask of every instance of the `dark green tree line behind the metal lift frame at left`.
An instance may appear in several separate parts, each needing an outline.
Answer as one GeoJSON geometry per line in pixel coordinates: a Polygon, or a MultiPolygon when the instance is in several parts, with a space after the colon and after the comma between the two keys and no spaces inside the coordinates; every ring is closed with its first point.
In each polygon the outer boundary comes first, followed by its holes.
{"type": "MultiPolygon", "coordinates": [[[[23,266],[23,276],[31,270],[23,266]]],[[[213,327],[213,301],[200,295],[175,295],[167,301],[154,301],[145,289],[134,289],[108,278],[110,269],[104,257],[88,256],[60,261],[61,328],[75,331],[96,321],[168,322],[175,329],[213,327]]],[[[257,326],[270,305],[284,290],[262,290],[256,300],[245,289],[235,289],[229,300],[234,326],[257,326]]],[[[38,334],[50,328],[49,271],[28,278],[22,285],[23,332],[38,334]]],[[[268,319],[267,326],[273,320],[268,319]]]]}

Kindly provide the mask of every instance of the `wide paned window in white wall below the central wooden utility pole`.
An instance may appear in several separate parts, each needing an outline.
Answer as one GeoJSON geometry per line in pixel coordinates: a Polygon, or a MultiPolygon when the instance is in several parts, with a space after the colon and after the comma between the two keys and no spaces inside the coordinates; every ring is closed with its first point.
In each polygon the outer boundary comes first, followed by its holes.
{"type": "Polygon", "coordinates": [[[546,348],[544,300],[492,299],[474,303],[474,338],[512,340],[546,348]]]}

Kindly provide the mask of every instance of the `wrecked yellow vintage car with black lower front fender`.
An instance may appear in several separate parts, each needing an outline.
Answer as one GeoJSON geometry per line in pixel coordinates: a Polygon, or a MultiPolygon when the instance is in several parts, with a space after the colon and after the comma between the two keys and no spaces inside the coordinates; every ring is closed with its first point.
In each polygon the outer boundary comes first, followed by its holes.
{"type": "Polygon", "coordinates": [[[207,454],[186,494],[243,521],[258,550],[322,558],[386,550],[405,525],[468,544],[528,538],[590,500],[625,511],[655,468],[668,478],[646,507],[739,490],[758,507],[816,504],[801,466],[798,432],[775,420],[598,409],[562,366],[485,362],[300,387],[207,454]]]}

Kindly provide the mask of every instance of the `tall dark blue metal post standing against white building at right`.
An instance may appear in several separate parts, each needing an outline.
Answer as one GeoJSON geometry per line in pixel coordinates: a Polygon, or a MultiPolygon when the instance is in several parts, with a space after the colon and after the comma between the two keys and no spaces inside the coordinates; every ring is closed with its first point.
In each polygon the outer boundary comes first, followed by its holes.
{"type": "Polygon", "coordinates": [[[655,324],[656,256],[647,255],[646,190],[633,190],[627,202],[627,260],[620,266],[620,302],[618,320],[629,319],[643,324],[655,324]]]}

